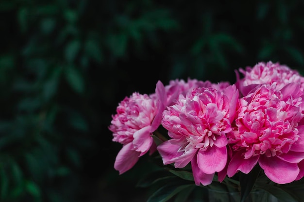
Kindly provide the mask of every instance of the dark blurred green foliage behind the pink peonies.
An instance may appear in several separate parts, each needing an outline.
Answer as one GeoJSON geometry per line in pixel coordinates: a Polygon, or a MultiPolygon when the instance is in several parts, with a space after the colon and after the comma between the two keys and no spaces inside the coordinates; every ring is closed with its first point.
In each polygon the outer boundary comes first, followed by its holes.
{"type": "MultiPolygon", "coordinates": [[[[143,202],[143,156],[118,175],[118,103],[158,80],[304,73],[304,2],[1,0],[0,201],[143,202]]],[[[155,168],[157,169],[157,168],[155,168]]]]}

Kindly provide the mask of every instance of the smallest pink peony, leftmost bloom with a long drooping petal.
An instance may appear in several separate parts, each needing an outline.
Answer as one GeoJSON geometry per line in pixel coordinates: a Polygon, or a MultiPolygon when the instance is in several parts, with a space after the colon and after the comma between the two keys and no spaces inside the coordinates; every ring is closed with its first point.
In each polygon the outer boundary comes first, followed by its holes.
{"type": "Polygon", "coordinates": [[[156,106],[156,101],[147,94],[133,93],[119,103],[117,114],[112,115],[109,129],[113,132],[113,141],[123,145],[114,164],[119,174],[130,170],[154,143],[150,131],[156,106]]]}

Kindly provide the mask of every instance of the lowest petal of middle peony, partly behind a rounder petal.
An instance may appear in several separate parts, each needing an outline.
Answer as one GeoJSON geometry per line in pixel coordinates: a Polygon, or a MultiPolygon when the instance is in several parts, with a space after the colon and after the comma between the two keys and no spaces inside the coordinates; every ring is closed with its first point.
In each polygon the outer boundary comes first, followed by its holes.
{"type": "Polygon", "coordinates": [[[206,186],[212,183],[214,173],[206,174],[203,171],[201,171],[197,164],[196,158],[193,158],[191,160],[191,168],[192,168],[195,185],[200,186],[202,183],[203,186],[206,186]]]}

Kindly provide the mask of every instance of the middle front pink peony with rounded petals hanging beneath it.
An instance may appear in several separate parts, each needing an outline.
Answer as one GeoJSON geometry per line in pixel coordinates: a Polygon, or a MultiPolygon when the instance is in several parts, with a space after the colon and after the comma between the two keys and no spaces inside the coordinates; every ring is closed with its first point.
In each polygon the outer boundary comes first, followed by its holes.
{"type": "Polygon", "coordinates": [[[157,147],[163,163],[183,168],[191,162],[195,184],[211,184],[215,172],[226,165],[226,133],[231,131],[237,100],[235,85],[224,90],[196,88],[180,95],[162,113],[162,125],[171,138],[157,147]]]}

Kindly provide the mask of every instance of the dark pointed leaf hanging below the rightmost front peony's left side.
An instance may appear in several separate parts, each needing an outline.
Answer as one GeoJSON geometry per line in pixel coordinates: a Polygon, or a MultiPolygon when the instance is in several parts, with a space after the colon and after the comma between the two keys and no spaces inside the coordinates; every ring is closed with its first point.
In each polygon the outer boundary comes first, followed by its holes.
{"type": "Polygon", "coordinates": [[[261,171],[261,168],[256,165],[252,171],[248,174],[240,173],[239,175],[239,183],[241,187],[241,202],[244,202],[249,193],[251,192],[254,183],[261,171]]]}

